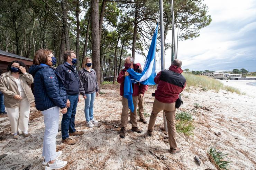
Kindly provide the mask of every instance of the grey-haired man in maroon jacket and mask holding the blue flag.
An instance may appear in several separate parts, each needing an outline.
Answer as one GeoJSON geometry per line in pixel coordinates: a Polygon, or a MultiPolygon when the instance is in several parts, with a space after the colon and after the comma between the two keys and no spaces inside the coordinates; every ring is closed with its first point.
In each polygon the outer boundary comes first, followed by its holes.
{"type": "MultiPolygon", "coordinates": [[[[129,76],[129,73],[127,70],[129,68],[134,68],[136,64],[134,64],[134,59],[132,57],[127,57],[125,59],[125,69],[123,69],[118,77],[117,82],[120,83],[120,95],[122,96],[122,114],[121,114],[121,130],[120,130],[120,137],[125,137],[125,130],[127,128],[127,122],[128,122],[128,100],[124,97],[124,80],[126,76],[129,76]]],[[[134,112],[130,112],[130,118],[131,118],[131,130],[141,133],[141,130],[137,127],[137,105],[138,105],[138,97],[143,97],[146,86],[139,83],[132,83],[132,100],[134,104],[134,112]],[[140,85],[140,86],[139,86],[140,85]]]]}

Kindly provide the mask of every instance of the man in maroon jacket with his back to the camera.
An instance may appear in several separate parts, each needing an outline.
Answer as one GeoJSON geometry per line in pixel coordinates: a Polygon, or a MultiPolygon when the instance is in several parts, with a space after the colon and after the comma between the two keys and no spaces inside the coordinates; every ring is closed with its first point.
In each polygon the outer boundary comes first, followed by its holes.
{"type": "Polygon", "coordinates": [[[155,101],[148,123],[148,134],[152,136],[157,114],[162,110],[165,111],[172,154],[181,151],[177,148],[175,127],[175,101],[186,86],[186,79],[181,74],[183,72],[181,65],[182,62],[176,59],[168,70],[162,70],[156,75],[154,81],[158,87],[155,91],[155,101]]]}

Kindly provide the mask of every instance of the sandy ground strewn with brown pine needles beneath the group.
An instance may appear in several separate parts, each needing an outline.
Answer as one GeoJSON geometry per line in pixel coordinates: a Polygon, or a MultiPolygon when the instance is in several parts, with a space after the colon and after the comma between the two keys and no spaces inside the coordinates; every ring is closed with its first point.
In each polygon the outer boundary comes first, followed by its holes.
{"type": "MultiPolygon", "coordinates": [[[[150,87],[145,94],[145,112],[150,113],[154,97],[151,93],[155,87],[150,87]]],[[[229,169],[255,170],[256,167],[256,100],[252,97],[241,96],[235,93],[215,93],[186,89],[182,93],[184,104],[181,110],[193,114],[195,130],[193,137],[182,133],[177,134],[179,154],[172,155],[166,142],[166,134],[159,130],[163,122],[162,113],[159,113],[153,137],[147,136],[147,124],[138,123],[142,133],[128,130],[125,139],[119,137],[121,97],[119,85],[101,86],[106,92],[96,98],[94,116],[100,121],[98,127],[89,129],[85,126],[83,113],[84,101],[77,107],[76,129],[85,132],[83,136],[72,137],[77,143],[67,146],[61,142],[61,131],[58,132],[57,150],[62,150],[60,159],[67,160],[68,170],[82,169],[186,169],[198,170],[210,168],[215,170],[207,156],[210,147],[216,147],[223,153],[229,153],[226,160],[232,162],[229,169]],[[211,111],[196,109],[193,104],[198,103],[211,111]],[[221,132],[217,137],[214,132],[221,132]],[[157,155],[164,155],[167,160],[159,160],[148,150],[157,155]],[[194,161],[194,156],[201,157],[201,166],[194,161]]],[[[31,109],[29,130],[31,136],[12,139],[11,129],[7,116],[0,116],[0,155],[8,155],[0,160],[0,169],[23,169],[31,165],[30,169],[43,169],[42,147],[44,136],[44,121],[42,114],[31,109]]],[[[60,116],[61,120],[61,116],[60,116]]],[[[146,117],[149,121],[149,117],[146,117]]],[[[61,123],[61,121],[60,121],[61,123]]]]}

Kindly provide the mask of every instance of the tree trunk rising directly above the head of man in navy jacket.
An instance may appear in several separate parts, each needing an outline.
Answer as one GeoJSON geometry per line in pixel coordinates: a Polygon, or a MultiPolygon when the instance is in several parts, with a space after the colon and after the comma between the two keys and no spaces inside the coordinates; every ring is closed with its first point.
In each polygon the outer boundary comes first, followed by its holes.
{"type": "Polygon", "coordinates": [[[62,7],[62,18],[63,18],[63,28],[64,28],[64,35],[65,35],[65,42],[66,42],[66,50],[70,50],[70,43],[69,43],[69,34],[68,34],[68,27],[67,27],[67,2],[66,0],[61,1],[62,7]]]}

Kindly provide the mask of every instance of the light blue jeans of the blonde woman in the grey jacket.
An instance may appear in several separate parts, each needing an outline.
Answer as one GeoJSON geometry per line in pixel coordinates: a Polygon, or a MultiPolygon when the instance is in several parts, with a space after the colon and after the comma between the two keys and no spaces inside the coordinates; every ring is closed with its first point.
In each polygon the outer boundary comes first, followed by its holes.
{"type": "Polygon", "coordinates": [[[92,94],[85,94],[86,99],[84,99],[85,101],[84,114],[85,114],[86,122],[89,122],[90,120],[93,119],[93,103],[95,99],[95,94],[96,92],[92,94]]]}

